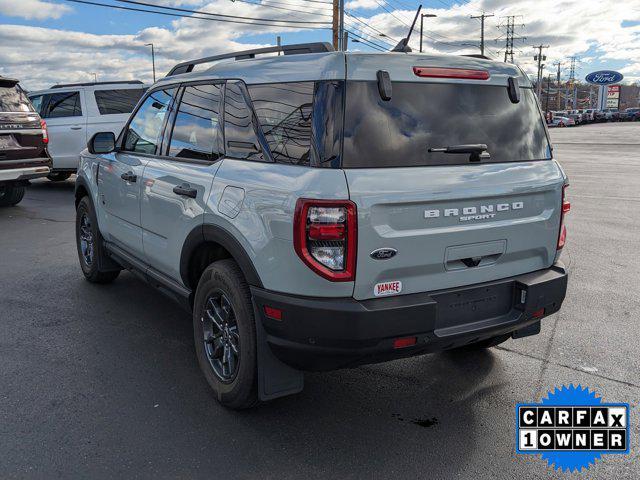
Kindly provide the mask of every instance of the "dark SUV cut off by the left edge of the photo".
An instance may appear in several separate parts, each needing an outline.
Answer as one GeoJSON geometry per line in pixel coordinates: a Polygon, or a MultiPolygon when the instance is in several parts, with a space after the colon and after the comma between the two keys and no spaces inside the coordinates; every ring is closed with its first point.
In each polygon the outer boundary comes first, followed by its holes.
{"type": "Polygon", "coordinates": [[[48,140],[18,80],[0,77],[0,207],[20,202],[29,180],[49,174],[48,140]]]}

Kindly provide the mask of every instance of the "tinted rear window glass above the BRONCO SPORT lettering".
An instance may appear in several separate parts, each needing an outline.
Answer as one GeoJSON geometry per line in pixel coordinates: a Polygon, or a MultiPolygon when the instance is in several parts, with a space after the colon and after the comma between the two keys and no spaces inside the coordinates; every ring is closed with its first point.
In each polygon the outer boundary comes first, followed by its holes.
{"type": "Polygon", "coordinates": [[[468,153],[429,148],[486,144],[485,162],[551,158],[531,89],[512,103],[506,87],[394,82],[380,98],[377,82],[347,82],[342,165],[345,168],[468,164],[468,153]]]}

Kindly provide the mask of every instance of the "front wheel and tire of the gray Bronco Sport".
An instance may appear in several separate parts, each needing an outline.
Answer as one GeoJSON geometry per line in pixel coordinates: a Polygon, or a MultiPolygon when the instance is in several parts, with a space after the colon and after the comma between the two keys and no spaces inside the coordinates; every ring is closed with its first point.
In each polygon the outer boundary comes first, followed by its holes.
{"type": "Polygon", "coordinates": [[[76,246],[82,273],[91,283],[111,283],[118,277],[119,269],[104,268],[104,265],[111,266],[113,262],[105,252],[89,197],[83,197],[76,209],[76,246]]]}

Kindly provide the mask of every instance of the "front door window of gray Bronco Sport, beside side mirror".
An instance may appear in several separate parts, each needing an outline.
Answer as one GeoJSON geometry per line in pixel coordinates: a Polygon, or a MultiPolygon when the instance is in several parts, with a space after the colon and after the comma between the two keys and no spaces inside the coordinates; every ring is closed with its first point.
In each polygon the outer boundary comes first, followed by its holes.
{"type": "Polygon", "coordinates": [[[124,148],[127,152],[156,153],[156,146],[169,110],[175,88],[156,90],[140,106],[125,132],[124,148]]]}

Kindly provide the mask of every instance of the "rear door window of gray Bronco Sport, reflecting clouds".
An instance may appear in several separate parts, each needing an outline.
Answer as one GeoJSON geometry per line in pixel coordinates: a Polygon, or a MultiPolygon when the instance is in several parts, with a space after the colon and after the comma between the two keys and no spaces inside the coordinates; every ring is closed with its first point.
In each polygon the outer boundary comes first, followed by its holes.
{"type": "Polygon", "coordinates": [[[217,160],[221,156],[221,93],[221,84],[184,89],[169,144],[170,157],[217,160]]]}

